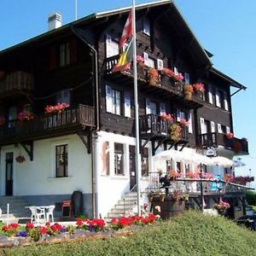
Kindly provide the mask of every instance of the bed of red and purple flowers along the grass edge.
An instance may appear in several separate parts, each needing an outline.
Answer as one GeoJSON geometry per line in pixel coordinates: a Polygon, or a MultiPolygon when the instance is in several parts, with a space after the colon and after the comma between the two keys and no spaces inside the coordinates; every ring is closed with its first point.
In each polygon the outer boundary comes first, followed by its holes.
{"type": "Polygon", "coordinates": [[[62,226],[61,224],[49,224],[44,226],[35,226],[28,223],[26,226],[20,224],[3,225],[2,230],[5,238],[0,240],[0,247],[12,246],[29,246],[32,242],[37,244],[56,243],[73,239],[104,237],[109,233],[114,233],[117,230],[125,232],[137,226],[142,228],[151,226],[157,220],[157,216],[153,213],[143,216],[129,216],[121,218],[113,218],[111,224],[108,224],[102,218],[88,219],[78,218],[76,225],[62,226]]]}

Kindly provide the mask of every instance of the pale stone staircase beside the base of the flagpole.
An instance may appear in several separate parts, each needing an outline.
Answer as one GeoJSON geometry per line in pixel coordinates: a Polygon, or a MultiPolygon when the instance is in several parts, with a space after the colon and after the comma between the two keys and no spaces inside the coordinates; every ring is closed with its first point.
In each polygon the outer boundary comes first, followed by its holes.
{"type": "Polygon", "coordinates": [[[108,212],[107,218],[104,219],[110,223],[112,218],[119,218],[124,213],[133,212],[135,207],[137,207],[137,192],[125,193],[124,197],[117,202],[108,212]]]}

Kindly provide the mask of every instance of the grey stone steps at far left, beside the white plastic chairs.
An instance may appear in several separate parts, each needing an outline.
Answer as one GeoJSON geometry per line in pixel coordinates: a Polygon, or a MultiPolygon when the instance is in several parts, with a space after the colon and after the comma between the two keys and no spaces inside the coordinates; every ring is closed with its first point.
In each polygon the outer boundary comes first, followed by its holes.
{"type": "Polygon", "coordinates": [[[27,222],[30,220],[31,212],[28,208],[29,204],[22,196],[0,196],[0,208],[2,216],[0,221],[7,221],[7,204],[9,203],[9,223],[27,222]]]}

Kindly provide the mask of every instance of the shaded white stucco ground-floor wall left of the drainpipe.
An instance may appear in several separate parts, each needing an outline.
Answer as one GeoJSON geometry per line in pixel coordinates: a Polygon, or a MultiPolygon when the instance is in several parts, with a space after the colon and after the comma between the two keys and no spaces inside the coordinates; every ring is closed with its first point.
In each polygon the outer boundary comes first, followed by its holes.
{"type": "Polygon", "coordinates": [[[2,147],[1,195],[5,195],[5,154],[14,152],[14,195],[64,195],[74,190],[91,193],[91,154],[77,135],[54,137],[34,142],[34,159],[20,144],[2,147]],[[68,145],[68,177],[55,177],[55,146],[68,145]],[[16,156],[24,155],[26,161],[18,163],[16,156]]]}

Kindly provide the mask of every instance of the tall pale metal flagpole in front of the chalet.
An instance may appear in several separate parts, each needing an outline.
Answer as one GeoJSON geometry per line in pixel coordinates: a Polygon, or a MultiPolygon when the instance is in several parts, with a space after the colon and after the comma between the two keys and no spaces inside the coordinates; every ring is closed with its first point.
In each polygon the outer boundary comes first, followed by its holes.
{"type": "Polygon", "coordinates": [[[141,215],[141,158],[140,158],[140,143],[139,143],[139,118],[137,104],[137,49],[136,49],[136,17],[135,17],[135,0],[132,0],[132,34],[133,34],[133,75],[134,75],[134,118],[135,118],[135,164],[136,164],[136,183],[137,183],[137,214],[141,215]]]}

